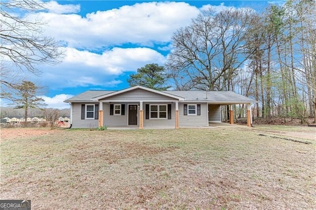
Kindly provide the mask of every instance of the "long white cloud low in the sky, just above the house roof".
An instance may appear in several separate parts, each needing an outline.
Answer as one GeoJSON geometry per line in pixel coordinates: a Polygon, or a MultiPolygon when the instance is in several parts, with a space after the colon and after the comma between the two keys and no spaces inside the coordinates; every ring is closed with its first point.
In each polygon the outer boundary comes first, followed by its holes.
{"type": "Polygon", "coordinates": [[[126,81],[120,79],[124,72],[136,71],[149,63],[162,65],[165,57],[157,51],[138,48],[118,48],[96,54],[88,51],[79,51],[74,48],[65,48],[66,58],[56,66],[42,66],[41,77],[30,78],[38,80],[41,86],[49,89],[65,87],[104,86],[115,87],[126,81]]]}

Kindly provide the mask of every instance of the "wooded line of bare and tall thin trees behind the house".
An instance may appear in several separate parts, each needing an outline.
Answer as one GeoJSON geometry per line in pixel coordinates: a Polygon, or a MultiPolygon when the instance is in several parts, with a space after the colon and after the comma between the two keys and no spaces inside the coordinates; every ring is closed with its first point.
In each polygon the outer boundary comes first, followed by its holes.
{"type": "Polygon", "coordinates": [[[272,4],[263,13],[209,9],[172,41],[166,70],[177,90],[252,97],[256,117],[316,118],[316,1],[272,4]]]}

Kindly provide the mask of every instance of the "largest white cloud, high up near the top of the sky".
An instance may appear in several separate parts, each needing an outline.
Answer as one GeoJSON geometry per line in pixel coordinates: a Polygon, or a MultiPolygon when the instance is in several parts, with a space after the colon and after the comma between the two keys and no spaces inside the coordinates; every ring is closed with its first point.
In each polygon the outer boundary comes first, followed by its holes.
{"type": "MultiPolygon", "coordinates": [[[[51,3],[55,4],[55,3],[51,3]]],[[[63,6],[65,7],[65,6],[63,6]]],[[[185,2],[143,2],[118,9],[78,14],[54,12],[30,14],[29,18],[48,22],[46,32],[69,47],[96,49],[123,43],[152,46],[167,43],[172,33],[188,25],[199,10],[185,2]]],[[[60,9],[65,11],[64,8],[60,9]]],[[[69,9],[71,11],[71,9],[69,9]]]]}

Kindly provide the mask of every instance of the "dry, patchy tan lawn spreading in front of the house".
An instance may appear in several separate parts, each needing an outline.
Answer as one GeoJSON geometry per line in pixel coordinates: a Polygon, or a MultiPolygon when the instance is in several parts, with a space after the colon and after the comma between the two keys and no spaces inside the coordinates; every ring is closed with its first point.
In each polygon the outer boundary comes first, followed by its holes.
{"type": "Polygon", "coordinates": [[[34,209],[316,208],[315,142],[247,128],[59,130],[0,148],[0,199],[34,209]]]}

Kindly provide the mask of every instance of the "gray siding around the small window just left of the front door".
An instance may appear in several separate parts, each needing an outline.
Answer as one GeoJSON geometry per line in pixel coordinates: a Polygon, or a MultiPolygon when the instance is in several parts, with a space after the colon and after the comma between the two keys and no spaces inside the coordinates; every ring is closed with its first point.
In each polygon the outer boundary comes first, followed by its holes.
{"type": "MultiPolygon", "coordinates": [[[[110,104],[103,103],[103,124],[106,126],[127,126],[128,125],[128,112],[127,103],[111,103],[111,104],[124,104],[125,115],[110,115],[110,104]]],[[[132,103],[128,103],[132,104],[132,103]]],[[[133,103],[137,104],[137,103],[133,103]]]]}

